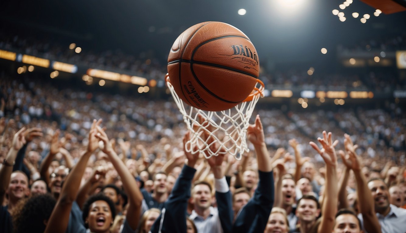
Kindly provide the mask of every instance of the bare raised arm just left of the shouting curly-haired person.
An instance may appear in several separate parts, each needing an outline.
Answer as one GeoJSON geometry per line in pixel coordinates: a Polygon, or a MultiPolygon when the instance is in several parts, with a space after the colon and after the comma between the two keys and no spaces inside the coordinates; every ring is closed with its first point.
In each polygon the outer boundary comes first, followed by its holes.
{"type": "Polygon", "coordinates": [[[58,202],[56,203],[54,210],[48,220],[47,227],[45,228],[45,233],[65,233],[65,230],[69,222],[69,214],[72,208],[73,201],[76,200],[76,195],[79,191],[80,182],[86,168],[87,161],[99,147],[97,138],[95,137],[97,130],[96,126],[99,125],[102,121],[93,120],[89,132],[89,144],[87,150],[80,157],[78,163],[73,167],[69,175],[67,176],[65,183],[63,184],[62,191],[58,202]]]}

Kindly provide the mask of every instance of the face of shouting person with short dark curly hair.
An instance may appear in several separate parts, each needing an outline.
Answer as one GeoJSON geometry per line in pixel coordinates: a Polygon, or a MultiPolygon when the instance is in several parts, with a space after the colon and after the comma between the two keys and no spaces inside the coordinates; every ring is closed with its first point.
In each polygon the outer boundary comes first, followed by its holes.
{"type": "Polygon", "coordinates": [[[89,216],[86,218],[91,232],[108,232],[113,222],[110,206],[106,201],[93,202],[89,208],[89,216]]]}

